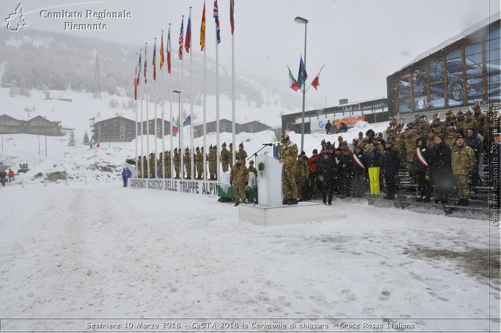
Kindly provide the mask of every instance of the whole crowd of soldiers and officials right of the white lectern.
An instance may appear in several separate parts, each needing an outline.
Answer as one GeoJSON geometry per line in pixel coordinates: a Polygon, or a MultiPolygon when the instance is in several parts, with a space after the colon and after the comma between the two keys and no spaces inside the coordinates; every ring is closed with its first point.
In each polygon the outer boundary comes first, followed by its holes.
{"type": "Polygon", "coordinates": [[[417,185],[416,201],[429,202],[432,185],[435,185],[434,202],[447,204],[455,182],[459,200],[454,204],[466,206],[469,186],[482,185],[479,173],[483,158],[491,162],[489,172],[499,165],[501,135],[495,114],[493,105],[484,114],[475,104],[473,112],[468,110],[463,114],[459,110],[454,114],[448,110],[445,122],[440,121],[438,114],[431,123],[425,116],[416,115],[415,121],[405,126],[392,119],[386,140],[382,133],[369,129],[365,136],[358,133],[351,149],[342,136],[338,137],[337,147],[322,140],[320,153],[314,149],[311,157],[304,151],[297,155],[297,145],[283,134],[282,143],[286,147],[280,159],[284,163],[283,203],[294,205],[298,199],[308,201],[317,192],[324,204],[330,205],[333,196],[359,197],[366,187],[370,188],[371,195],[379,195],[384,183],[385,198],[393,200],[400,183],[398,172],[402,161],[410,176],[407,190],[415,192],[417,185]],[[365,180],[369,186],[364,185],[365,180]]]}

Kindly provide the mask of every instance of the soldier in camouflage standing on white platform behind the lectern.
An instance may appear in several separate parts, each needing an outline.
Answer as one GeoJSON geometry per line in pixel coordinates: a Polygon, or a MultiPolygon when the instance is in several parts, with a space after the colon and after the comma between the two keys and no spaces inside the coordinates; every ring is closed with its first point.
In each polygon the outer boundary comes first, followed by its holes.
{"type": "Polygon", "coordinates": [[[280,156],[279,162],[282,166],[282,193],[284,205],[298,204],[298,188],[296,186],[296,159],[298,156],[298,145],[291,142],[288,134],[282,134],[281,141],[284,144],[284,150],[280,156]]]}

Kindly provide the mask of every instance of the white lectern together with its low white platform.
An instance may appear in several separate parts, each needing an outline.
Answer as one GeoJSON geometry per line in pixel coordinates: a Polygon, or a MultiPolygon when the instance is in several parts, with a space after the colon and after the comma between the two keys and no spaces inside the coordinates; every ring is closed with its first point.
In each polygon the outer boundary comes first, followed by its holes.
{"type": "Polygon", "coordinates": [[[283,164],[267,154],[258,155],[256,163],[258,204],[238,205],[241,221],[267,226],[346,218],[346,215],[338,215],[335,209],[327,210],[324,204],[301,202],[297,205],[282,205],[283,164]]]}

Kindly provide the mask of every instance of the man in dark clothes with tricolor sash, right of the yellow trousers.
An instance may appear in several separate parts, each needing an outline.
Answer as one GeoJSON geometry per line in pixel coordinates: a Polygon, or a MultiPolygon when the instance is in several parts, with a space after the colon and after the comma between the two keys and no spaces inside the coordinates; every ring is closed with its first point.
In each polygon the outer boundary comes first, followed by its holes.
{"type": "Polygon", "coordinates": [[[417,179],[416,201],[429,202],[431,197],[431,149],[426,146],[426,139],[420,136],[416,140],[417,148],[414,151],[412,166],[417,179]]]}

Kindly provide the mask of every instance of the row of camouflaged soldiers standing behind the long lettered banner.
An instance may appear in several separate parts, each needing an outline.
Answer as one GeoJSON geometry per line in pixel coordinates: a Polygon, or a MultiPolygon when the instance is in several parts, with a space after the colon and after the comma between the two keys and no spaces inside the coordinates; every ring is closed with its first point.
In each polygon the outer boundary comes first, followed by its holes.
{"type": "MultiPolygon", "coordinates": [[[[221,151],[219,153],[219,162],[221,164],[222,172],[227,172],[231,168],[231,160],[233,158],[233,147],[232,143],[229,143],[229,150],[226,149],[226,142],[221,145],[221,151]]],[[[171,167],[171,152],[166,150],[165,152],[160,152],[158,158],[153,152],[150,153],[149,159],[144,155],[142,158],[138,156],[137,158],[137,170],[138,178],[173,178],[180,179],[181,175],[181,151],[177,147],[173,150],[172,161],[174,163],[174,175],[172,175],[171,167]],[[157,171],[155,172],[155,162],[157,164],[157,171]],[[141,173],[142,170],[142,173],[141,173]],[[172,177],[174,176],[174,177],[172,177]]],[[[247,157],[247,153],[243,149],[243,142],[238,145],[238,150],[235,152],[235,159],[241,156],[243,159],[247,157]]],[[[217,180],[217,147],[214,145],[209,146],[209,153],[205,153],[205,164],[206,171],[203,175],[203,159],[204,151],[202,147],[196,147],[193,153],[193,179],[208,179],[217,180]],[[207,168],[208,166],[208,168],[207,168]],[[207,178],[208,176],[208,178],[207,178]]],[[[192,179],[191,175],[191,152],[188,147],[184,149],[183,156],[183,179],[192,179]]]]}

